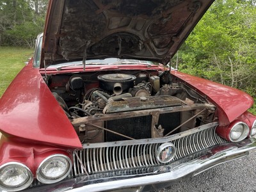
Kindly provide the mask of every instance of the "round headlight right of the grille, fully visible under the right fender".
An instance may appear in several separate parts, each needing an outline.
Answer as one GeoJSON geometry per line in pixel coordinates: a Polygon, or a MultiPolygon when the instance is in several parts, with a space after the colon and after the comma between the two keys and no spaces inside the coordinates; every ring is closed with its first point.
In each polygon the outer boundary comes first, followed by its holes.
{"type": "Polygon", "coordinates": [[[236,123],[229,132],[229,138],[232,142],[238,142],[244,140],[250,132],[248,125],[243,122],[236,123]]]}

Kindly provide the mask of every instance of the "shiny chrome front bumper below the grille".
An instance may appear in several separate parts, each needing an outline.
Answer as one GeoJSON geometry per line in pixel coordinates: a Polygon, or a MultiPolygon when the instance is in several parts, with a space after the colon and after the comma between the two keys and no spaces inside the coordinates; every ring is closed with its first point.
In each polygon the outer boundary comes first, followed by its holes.
{"type": "Polygon", "coordinates": [[[173,182],[197,175],[217,164],[244,157],[253,148],[256,148],[256,140],[247,139],[240,143],[217,145],[207,150],[204,156],[191,161],[185,157],[164,166],[148,168],[150,172],[84,175],[26,191],[150,191],[170,186],[173,182]]]}

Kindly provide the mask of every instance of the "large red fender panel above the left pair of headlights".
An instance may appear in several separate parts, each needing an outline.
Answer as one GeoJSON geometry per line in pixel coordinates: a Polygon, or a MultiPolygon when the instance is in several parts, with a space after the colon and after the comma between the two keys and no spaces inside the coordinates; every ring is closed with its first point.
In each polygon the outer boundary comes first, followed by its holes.
{"type": "Polygon", "coordinates": [[[31,141],[81,148],[74,127],[31,63],[0,100],[0,130],[31,141]]]}

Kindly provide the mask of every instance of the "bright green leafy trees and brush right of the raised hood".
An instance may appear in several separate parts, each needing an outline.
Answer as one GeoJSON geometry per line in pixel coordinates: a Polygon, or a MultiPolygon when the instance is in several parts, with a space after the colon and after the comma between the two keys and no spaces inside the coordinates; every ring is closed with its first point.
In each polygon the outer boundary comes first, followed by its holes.
{"type": "Polygon", "coordinates": [[[180,70],[256,98],[256,1],[216,0],[179,52],[180,70]]]}

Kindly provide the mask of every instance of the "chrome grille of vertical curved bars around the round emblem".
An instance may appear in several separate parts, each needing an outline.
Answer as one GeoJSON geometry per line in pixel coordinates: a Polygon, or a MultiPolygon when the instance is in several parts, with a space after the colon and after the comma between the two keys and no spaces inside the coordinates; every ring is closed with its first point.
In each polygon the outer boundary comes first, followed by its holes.
{"type": "Polygon", "coordinates": [[[160,165],[156,158],[156,150],[166,142],[175,145],[177,153],[172,161],[176,161],[214,145],[227,143],[215,133],[217,125],[203,125],[166,138],[84,145],[83,150],[76,150],[73,153],[72,175],[90,175],[160,165]]]}

